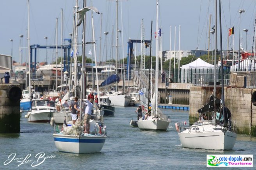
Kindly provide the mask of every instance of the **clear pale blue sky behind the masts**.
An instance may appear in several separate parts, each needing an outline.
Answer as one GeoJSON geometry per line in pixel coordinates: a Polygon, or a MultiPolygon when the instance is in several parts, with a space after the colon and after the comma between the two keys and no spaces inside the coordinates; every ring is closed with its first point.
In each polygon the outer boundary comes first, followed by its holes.
{"type": "MultiPolygon", "coordinates": [[[[219,2],[219,0],[218,0],[219,2]]],[[[78,0],[80,9],[83,0],[78,0]]],[[[56,45],[56,18],[58,18],[58,45],[61,44],[61,9],[63,9],[63,39],[71,38],[73,32],[73,10],[76,0],[30,0],[30,45],[39,44],[56,45]]],[[[255,0],[222,0],[222,43],[223,49],[233,48],[233,35],[228,36],[228,29],[235,27],[234,49],[240,42],[247,50],[252,50],[254,35],[254,22],[256,17],[255,0]],[[244,13],[239,13],[244,9],[244,13]],[[241,24],[239,24],[240,22],[241,24]],[[247,36],[244,29],[248,29],[247,36]],[[246,38],[247,37],[247,38],[246,38]],[[247,39],[247,41],[246,41],[247,39]]],[[[28,7],[27,0],[1,0],[0,1],[0,54],[11,55],[17,62],[27,60],[27,28],[28,7]],[[23,35],[23,38],[20,37],[23,35]],[[12,42],[10,41],[12,39],[12,42]],[[20,52],[22,49],[22,52],[20,52]],[[22,55],[22,58],[21,58],[22,55]]],[[[91,16],[94,20],[96,56],[97,60],[105,61],[115,59],[116,47],[116,0],[87,0],[87,6],[96,7],[101,15],[87,12],[86,17],[86,42],[92,40],[91,16]],[[106,36],[104,32],[108,32],[106,36]],[[101,37],[101,38],[100,38],[101,37]],[[100,48],[101,47],[101,48],[100,48]],[[107,53],[106,53],[107,51],[107,53]]],[[[219,6],[218,6],[219,8],[219,6]]],[[[144,38],[150,40],[151,21],[153,21],[152,55],[155,56],[155,32],[156,32],[156,0],[119,0],[118,7],[119,47],[121,58],[127,56],[128,39],[141,39],[141,22],[144,23],[144,38]]],[[[219,16],[219,11],[218,11],[219,16]]],[[[162,50],[212,50],[213,36],[208,39],[210,27],[215,25],[215,0],[159,0],[158,27],[162,29],[162,50]],[[211,22],[210,22],[210,15],[211,22]],[[174,27],[176,26],[176,38],[174,42],[174,27]],[[180,43],[179,43],[180,26],[180,43]],[[170,30],[171,29],[171,30],[170,30]],[[171,37],[170,37],[171,33],[171,37]]],[[[219,31],[219,18],[218,18],[219,31]]],[[[212,29],[210,30],[212,31],[212,29]]],[[[218,33],[219,34],[219,33],[218,33]]],[[[219,35],[218,35],[219,39],[219,35]]],[[[82,26],[78,27],[78,44],[82,42],[82,26]]],[[[66,43],[66,42],[65,42],[66,43]]],[[[254,43],[255,45],[255,43],[254,43]]],[[[134,45],[135,48],[135,45],[134,45]]],[[[86,56],[91,57],[89,50],[93,52],[91,45],[86,46],[86,56]]],[[[218,45],[219,49],[219,45],[218,45]]],[[[78,47],[82,54],[81,45],[78,47]]],[[[39,49],[37,61],[55,61],[55,50],[39,49]]],[[[134,49],[135,52],[135,49],[134,49]]],[[[140,54],[140,44],[137,44],[137,55],[140,54]]],[[[149,48],[146,50],[149,55],[149,48]]],[[[60,50],[58,51],[60,56],[60,50]]]]}

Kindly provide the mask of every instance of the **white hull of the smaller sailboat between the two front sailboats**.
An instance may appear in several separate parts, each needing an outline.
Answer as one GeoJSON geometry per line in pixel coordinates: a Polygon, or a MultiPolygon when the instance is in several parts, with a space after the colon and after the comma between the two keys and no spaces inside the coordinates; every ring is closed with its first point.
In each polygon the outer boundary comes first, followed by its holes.
{"type": "Polygon", "coordinates": [[[137,124],[140,130],[167,130],[169,121],[159,119],[138,120],[137,124]]]}

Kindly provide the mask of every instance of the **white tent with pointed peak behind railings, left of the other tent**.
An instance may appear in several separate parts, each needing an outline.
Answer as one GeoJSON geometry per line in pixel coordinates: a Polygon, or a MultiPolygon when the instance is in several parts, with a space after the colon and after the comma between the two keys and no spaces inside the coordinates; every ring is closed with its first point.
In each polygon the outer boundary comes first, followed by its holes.
{"type": "Polygon", "coordinates": [[[214,65],[198,58],[193,62],[181,66],[181,83],[212,82],[214,65]]]}

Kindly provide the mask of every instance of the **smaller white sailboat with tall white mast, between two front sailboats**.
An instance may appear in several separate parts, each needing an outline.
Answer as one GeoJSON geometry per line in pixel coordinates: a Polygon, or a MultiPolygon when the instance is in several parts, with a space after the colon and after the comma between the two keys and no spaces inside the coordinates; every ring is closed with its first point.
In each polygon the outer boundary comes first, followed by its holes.
{"type": "MultiPolygon", "coordinates": [[[[158,0],[156,0],[156,30],[158,30],[158,0]]],[[[156,31],[157,32],[157,31],[156,31]]],[[[152,36],[152,29],[151,29],[152,36]]],[[[140,130],[167,130],[170,119],[158,109],[158,34],[156,34],[156,75],[155,75],[155,94],[152,100],[151,115],[147,119],[140,118],[137,125],[140,130]]]]}

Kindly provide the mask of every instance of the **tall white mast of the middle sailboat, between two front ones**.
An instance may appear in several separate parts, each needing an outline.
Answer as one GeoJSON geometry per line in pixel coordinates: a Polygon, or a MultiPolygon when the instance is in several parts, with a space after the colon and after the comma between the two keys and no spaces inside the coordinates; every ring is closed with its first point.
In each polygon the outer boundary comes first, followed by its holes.
{"type": "Polygon", "coordinates": [[[158,114],[158,0],[156,0],[156,95],[155,95],[155,109],[156,109],[156,115],[158,114]]]}

